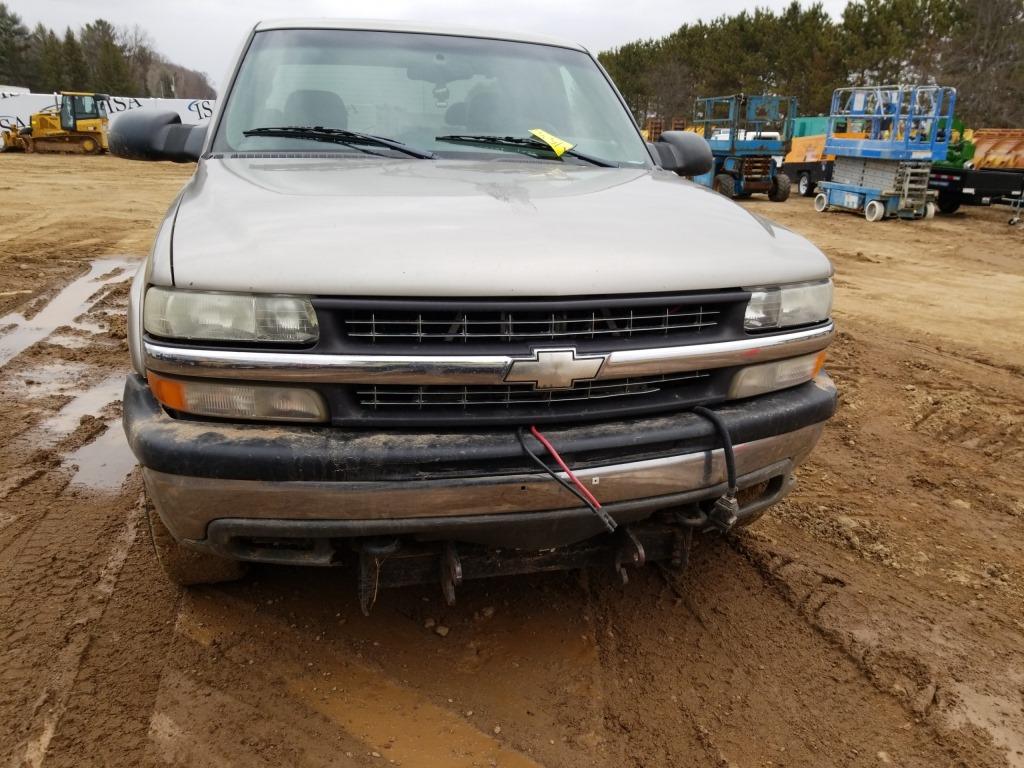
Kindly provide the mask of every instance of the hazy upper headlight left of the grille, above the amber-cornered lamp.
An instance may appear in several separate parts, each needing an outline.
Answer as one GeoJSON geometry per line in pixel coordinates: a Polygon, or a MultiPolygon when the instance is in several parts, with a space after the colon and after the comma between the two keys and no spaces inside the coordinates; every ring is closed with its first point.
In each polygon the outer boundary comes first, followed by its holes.
{"type": "Polygon", "coordinates": [[[301,296],[264,296],[151,288],[146,333],[168,339],[308,344],[316,341],[316,312],[301,296]]]}

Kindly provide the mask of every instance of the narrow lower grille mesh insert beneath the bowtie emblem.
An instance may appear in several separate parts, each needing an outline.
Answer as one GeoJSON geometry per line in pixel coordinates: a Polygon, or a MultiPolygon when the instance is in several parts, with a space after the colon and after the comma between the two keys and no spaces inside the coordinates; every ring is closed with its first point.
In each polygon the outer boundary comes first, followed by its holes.
{"type": "Polygon", "coordinates": [[[647,376],[634,379],[580,382],[569,389],[535,389],[531,384],[504,384],[501,386],[414,386],[368,385],[355,389],[358,403],[378,410],[428,410],[480,409],[518,406],[556,408],[560,403],[584,400],[606,400],[625,397],[643,397],[663,389],[679,389],[707,379],[709,373],[694,371],[669,376],[647,376]]]}

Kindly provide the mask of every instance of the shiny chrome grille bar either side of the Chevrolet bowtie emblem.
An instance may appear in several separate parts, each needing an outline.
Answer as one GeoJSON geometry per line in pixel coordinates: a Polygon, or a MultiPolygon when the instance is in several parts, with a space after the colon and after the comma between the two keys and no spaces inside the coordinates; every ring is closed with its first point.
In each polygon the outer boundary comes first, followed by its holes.
{"type": "MultiPolygon", "coordinates": [[[[836,333],[822,328],[737,341],[610,352],[594,377],[626,379],[795,357],[824,349],[836,333]]],[[[538,348],[543,348],[537,345],[538,348]]],[[[164,374],[322,384],[503,384],[521,359],[494,355],[303,354],[172,347],[145,342],[147,369],[164,374]]]]}

